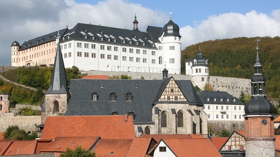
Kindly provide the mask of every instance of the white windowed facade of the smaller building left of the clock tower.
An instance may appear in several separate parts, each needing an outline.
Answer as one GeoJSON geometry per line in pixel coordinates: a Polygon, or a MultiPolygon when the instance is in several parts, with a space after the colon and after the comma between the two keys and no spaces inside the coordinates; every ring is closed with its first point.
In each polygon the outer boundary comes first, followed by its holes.
{"type": "Polygon", "coordinates": [[[244,121],[244,105],[204,104],[208,121],[244,121]]]}

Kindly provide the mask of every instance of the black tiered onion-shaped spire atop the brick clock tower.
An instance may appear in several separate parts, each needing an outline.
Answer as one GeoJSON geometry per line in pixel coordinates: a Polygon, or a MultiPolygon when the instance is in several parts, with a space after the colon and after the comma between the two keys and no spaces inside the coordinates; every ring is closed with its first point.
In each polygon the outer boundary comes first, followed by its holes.
{"type": "Polygon", "coordinates": [[[251,100],[245,105],[245,116],[247,115],[271,115],[274,107],[266,99],[265,78],[262,75],[262,64],[259,58],[259,47],[257,39],[257,57],[254,64],[254,75],[251,78],[251,100]]]}

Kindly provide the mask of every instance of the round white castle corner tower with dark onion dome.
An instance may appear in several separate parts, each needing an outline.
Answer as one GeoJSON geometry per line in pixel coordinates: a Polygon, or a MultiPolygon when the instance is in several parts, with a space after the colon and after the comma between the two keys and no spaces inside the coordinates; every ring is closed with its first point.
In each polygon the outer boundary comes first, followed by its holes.
{"type": "Polygon", "coordinates": [[[181,74],[181,35],[179,33],[179,26],[170,20],[163,27],[163,35],[159,38],[163,44],[164,61],[170,73],[181,74]]]}

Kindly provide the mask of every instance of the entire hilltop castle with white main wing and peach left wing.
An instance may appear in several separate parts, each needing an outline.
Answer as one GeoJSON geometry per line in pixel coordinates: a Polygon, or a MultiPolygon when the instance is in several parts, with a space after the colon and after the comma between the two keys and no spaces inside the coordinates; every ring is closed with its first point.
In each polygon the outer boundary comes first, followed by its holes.
{"type": "MultiPolygon", "coordinates": [[[[82,71],[131,71],[171,74],[181,73],[181,36],[172,19],[161,27],[138,30],[135,16],[133,30],[78,23],[63,29],[60,45],[65,67],[77,66],[82,71]]],[[[12,66],[54,63],[57,32],[24,42],[12,43],[12,66]]]]}

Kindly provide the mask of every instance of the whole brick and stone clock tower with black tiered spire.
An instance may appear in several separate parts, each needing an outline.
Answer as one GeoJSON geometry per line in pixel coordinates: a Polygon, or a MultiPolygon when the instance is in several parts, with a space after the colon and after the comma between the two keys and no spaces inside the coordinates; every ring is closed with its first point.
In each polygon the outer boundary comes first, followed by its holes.
{"type": "Polygon", "coordinates": [[[265,78],[259,59],[257,39],[257,57],[254,75],[251,78],[251,100],[245,105],[245,146],[246,157],[275,157],[275,138],[273,125],[274,107],[266,99],[265,78]]]}

